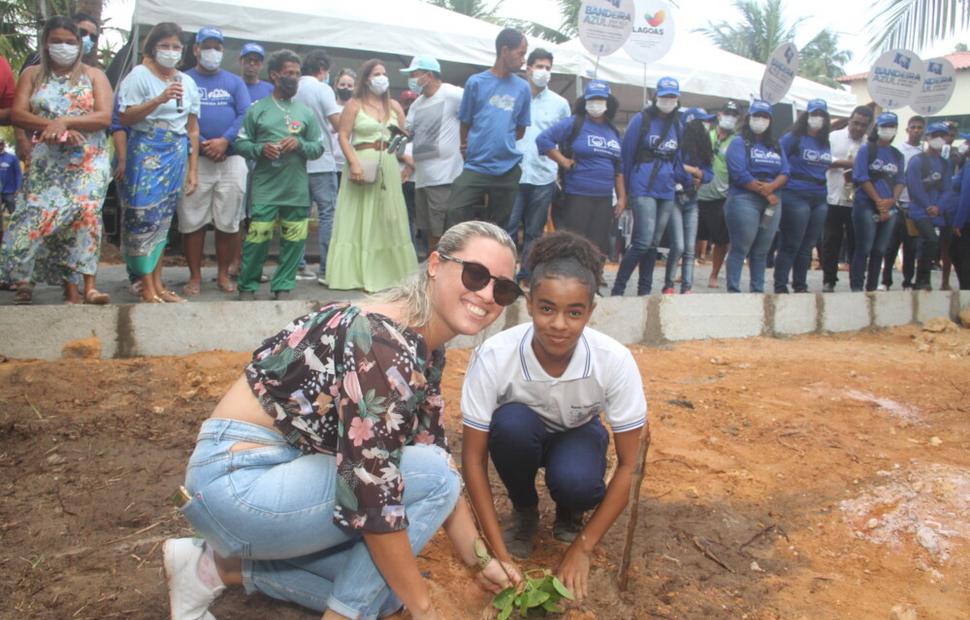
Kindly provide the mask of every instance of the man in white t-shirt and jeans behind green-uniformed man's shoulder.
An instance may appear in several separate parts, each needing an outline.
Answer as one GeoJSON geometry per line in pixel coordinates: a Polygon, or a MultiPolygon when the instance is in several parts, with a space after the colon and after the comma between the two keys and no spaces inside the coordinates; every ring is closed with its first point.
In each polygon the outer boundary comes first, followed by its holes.
{"type": "MultiPolygon", "coordinates": [[[[297,279],[315,279],[321,285],[326,281],[327,251],[333,231],[333,212],[337,205],[337,165],[334,151],[339,150],[337,141],[331,139],[331,130],[340,122],[340,106],[333,89],[327,84],[330,73],[330,57],[323,50],[313,50],[303,57],[300,67],[303,75],[296,90],[296,100],[310,108],[322,130],[323,154],[307,162],[310,179],[310,200],[317,205],[317,243],[320,266],[316,273],[301,260],[297,279]]],[[[304,252],[306,248],[304,246],[304,252]]]]}

